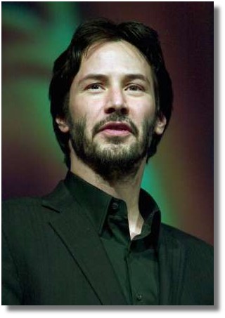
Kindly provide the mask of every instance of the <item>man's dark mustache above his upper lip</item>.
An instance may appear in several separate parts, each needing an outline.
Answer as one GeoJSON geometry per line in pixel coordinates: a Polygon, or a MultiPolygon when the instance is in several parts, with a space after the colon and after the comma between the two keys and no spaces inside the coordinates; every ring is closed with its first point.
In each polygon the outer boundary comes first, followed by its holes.
{"type": "Polygon", "coordinates": [[[99,121],[92,129],[92,135],[93,136],[96,135],[96,133],[98,133],[98,131],[100,131],[101,127],[110,121],[120,121],[120,122],[129,124],[129,126],[131,127],[131,130],[132,130],[132,133],[136,137],[139,136],[139,129],[136,127],[136,125],[133,123],[133,121],[131,121],[131,119],[127,118],[126,115],[116,114],[116,113],[110,114],[107,118],[99,121]]]}

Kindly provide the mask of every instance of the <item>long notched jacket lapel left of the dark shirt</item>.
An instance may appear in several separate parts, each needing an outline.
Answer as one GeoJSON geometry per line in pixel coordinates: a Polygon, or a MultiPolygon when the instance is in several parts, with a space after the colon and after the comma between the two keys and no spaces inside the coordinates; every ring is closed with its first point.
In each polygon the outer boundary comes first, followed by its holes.
{"type": "Polygon", "coordinates": [[[65,185],[60,183],[52,194],[44,198],[43,205],[60,211],[60,215],[52,218],[50,224],[82,269],[101,303],[127,305],[101,239],[65,185]]]}

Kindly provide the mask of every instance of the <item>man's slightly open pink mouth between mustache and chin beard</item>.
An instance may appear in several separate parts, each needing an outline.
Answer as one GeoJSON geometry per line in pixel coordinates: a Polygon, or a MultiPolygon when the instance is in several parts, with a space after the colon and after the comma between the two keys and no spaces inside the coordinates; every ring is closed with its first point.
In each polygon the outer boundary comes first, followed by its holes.
{"type": "Polygon", "coordinates": [[[103,125],[99,132],[110,136],[127,136],[133,133],[133,130],[127,123],[122,123],[121,121],[110,121],[103,125]]]}

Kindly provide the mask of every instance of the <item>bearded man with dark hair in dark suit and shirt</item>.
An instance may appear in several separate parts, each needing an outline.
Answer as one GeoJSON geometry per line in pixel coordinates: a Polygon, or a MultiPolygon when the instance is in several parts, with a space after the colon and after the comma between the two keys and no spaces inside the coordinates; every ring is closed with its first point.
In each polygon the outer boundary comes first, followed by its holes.
{"type": "Polygon", "coordinates": [[[213,305],[212,247],[161,224],[140,190],[172,111],[158,34],[85,22],[49,96],[69,172],[4,204],[3,305],[213,305]]]}

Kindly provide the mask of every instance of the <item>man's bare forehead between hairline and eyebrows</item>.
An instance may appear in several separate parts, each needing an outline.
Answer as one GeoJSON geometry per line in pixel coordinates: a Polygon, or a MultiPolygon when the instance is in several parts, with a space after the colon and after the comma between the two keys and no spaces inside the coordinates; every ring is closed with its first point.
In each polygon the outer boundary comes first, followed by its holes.
{"type": "MultiPolygon", "coordinates": [[[[127,41],[98,42],[82,56],[78,74],[86,72],[141,72],[151,77],[151,67],[141,51],[127,41]]],[[[77,75],[78,75],[77,74],[77,75]]]]}

